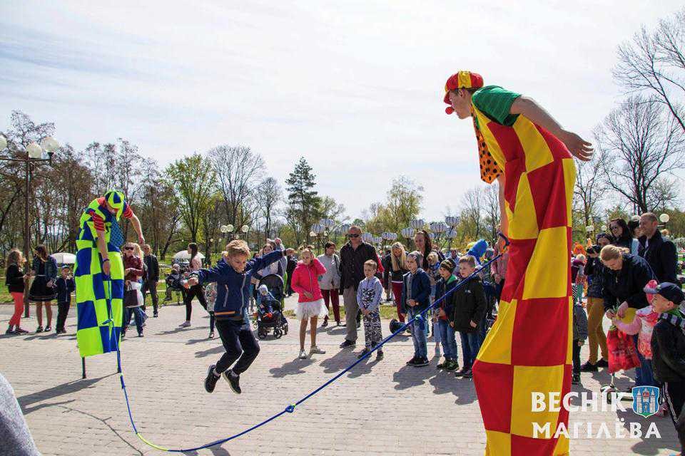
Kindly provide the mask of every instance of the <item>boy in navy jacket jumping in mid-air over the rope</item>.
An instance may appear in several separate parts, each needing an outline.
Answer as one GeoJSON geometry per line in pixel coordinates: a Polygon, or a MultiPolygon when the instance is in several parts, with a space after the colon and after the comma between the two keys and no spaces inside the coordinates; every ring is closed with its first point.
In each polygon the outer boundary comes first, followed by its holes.
{"type": "Polygon", "coordinates": [[[216,329],[226,352],[216,364],[209,366],[205,390],[212,393],[216,381],[223,374],[230,389],[240,394],[240,374],[248,370],[259,354],[259,343],[252,333],[250,321],[244,318],[250,300],[250,278],[253,271],[259,271],[283,258],[283,251],[275,250],[248,261],[248,244],[235,239],[226,246],[226,253],[228,261],[222,259],[211,269],[194,271],[185,285],[188,288],[205,282],[217,283],[214,316],[216,329]],[[235,360],[238,362],[230,368],[235,360]]]}

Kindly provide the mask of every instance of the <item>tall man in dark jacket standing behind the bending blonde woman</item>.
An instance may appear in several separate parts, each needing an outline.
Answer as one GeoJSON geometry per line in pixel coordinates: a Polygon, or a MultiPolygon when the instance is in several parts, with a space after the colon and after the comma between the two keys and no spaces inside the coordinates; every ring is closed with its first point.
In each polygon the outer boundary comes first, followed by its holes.
{"type": "Polygon", "coordinates": [[[656,280],[659,282],[678,283],[676,276],[676,244],[671,239],[664,239],[659,232],[659,219],[651,212],[642,214],[640,217],[640,229],[642,236],[639,238],[640,245],[638,254],[647,260],[651,266],[656,280]]]}

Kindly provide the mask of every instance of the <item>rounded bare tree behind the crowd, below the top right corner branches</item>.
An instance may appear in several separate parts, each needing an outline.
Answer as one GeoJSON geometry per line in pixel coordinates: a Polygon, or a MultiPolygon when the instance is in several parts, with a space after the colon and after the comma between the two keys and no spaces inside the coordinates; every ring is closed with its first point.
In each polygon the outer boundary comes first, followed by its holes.
{"type": "MultiPolygon", "coordinates": [[[[604,155],[602,169],[609,187],[641,212],[674,198],[662,190],[671,185],[674,170],[685,167],[684,131],[663,106],[640,96],[628,98],[595,132],[604,155]]],[[[674,187],[671,187],[674,188],[674,187]]]]}

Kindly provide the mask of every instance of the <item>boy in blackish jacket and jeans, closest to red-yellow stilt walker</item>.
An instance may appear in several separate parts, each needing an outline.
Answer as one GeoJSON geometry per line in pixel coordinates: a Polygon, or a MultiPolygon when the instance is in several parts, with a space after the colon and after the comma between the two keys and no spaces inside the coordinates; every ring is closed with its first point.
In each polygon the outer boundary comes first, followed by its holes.
{"type": "MultiPolygon", "coordinates": [[[[473,274],[475,270],[475,257],[467,255],[459,259],[459,274],[462,276],[462,280],[473,274]]],[[[480,277],[473,276],[466,284],[460,286],[452,294],[455,297],[452,316],[450,316],[450,326],[455,331],[460,332],[464,357],[464,367],[455,375],[457,377],[471,378],[471,368],[480,350],[478,328],[482,324],[485,311],[487,311],[485,291],[480,277]]]]}

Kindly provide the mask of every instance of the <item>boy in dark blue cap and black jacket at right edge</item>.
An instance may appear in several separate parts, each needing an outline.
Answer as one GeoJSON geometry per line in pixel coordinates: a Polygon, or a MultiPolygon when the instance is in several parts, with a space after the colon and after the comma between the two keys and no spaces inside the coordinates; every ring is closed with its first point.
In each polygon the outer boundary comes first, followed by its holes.
{"type": "Polygon", "coordinates": [[[645,291],[654,294],[652,306],[659,314],[651,335],[654,378],[664,383],[666,403],[678,432],[682,454],[685,451],[685,314],[679,307],[685,305],[685,296],[680,285],[669,282],[645,291]]]}

